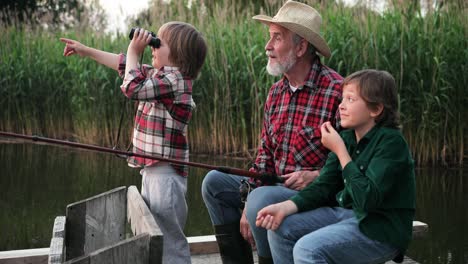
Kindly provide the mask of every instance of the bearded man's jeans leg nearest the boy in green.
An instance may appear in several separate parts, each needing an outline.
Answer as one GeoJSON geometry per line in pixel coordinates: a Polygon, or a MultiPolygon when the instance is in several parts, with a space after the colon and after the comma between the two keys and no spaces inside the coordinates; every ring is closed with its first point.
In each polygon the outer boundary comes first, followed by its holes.
{"type": "Polygon", "coordinates": [[[258,211],[270,204],[283,202],[296,193],[297,191],[288,189],[284,186],[258,187],[250,193],[246,207],[247,220],[249,221],[259,256],[271,257],[271,252],[270,246],[268,245],[267,230],[255,225],[255,219],[257,218],[258,211]]]}

